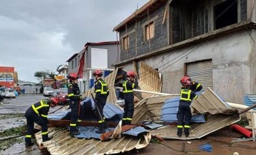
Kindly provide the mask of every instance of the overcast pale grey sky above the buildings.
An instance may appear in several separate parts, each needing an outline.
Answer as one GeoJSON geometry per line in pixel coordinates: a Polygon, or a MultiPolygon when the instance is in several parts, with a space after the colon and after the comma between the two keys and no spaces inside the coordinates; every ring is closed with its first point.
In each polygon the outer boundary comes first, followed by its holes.
{"type": "Polygon", "coordinates": [[[113,28],[148,0],[0,0],[0,66],[38,82],[87,42],[116,41],[113,28]]]}

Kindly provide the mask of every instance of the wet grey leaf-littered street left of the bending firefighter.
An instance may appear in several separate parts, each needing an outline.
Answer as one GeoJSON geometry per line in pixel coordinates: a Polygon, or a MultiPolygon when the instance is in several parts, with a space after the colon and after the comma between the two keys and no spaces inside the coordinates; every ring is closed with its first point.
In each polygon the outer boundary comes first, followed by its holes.
{"type": "Polygon", "coordinates": [[[24,129],[25,125],[25,111],[40,99],[45,99],[45,97],[25,94],[25,96],[0,101],[0,154],[45,154],[38,149],[37,145],[25,149],[25,136],[3,140],[3,138],[21,135],[21,129],[24,129]],[[3,134],[5,131],[10,135],[5,136],[3,134]]]}

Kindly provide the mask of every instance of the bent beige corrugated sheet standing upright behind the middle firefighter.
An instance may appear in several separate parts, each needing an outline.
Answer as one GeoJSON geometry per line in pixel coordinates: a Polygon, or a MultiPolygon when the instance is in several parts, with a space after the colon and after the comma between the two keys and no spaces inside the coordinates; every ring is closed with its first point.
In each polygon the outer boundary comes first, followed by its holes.
{"type": "MultiPolygon", "coordinates": [[[[113,104],[117,104],[117,96],[115,95],[115,88],[114,88],[115,76],[117,76],[117,70],[118,70],[118,68],[115,68],[115,70],[113,72],[111,72],[110,75],[108,75],[106,78],[104,78],[106,83],[108,83],[108,90],[110,92],[110,94],[108,95],[107,102],[113,103],[113,104]]],[[[90,97],[91,93],[93,93],[95,96],[94,87],[87,90],[86,93],[83,94],[83,97],[90,97]]]]}

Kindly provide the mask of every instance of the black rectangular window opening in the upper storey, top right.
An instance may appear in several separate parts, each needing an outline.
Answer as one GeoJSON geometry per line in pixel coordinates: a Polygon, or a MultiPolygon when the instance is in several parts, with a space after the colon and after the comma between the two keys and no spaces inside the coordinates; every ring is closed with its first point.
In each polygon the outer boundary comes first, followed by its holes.
{"type": "Polygon", "coordinates": [[[214,6],[215,30],[237,23],[237,0],[227,0],[214,6]]]}

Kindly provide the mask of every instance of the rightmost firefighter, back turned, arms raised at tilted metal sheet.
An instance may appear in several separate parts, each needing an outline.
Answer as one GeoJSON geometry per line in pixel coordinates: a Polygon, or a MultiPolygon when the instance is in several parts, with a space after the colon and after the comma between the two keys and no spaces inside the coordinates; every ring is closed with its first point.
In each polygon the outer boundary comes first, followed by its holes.
{"type": "Polygon", "coordinates": [[[177,113],[177,119],[178,119],[177,135],[181,137],[182,130],[184,127],[185,136],[189,137],[189,129],[191,127],[189,121],[192,117],[190,105],[191,105],[192,99],[197,98],[197,96],[194,93],[194,91],[190,89],[192,83],[189,77],[184,76],[183,78],[181,78],[180,82],[182,87],[180,92],[180,104],[179,104],[178,113],[177,113]]]}

